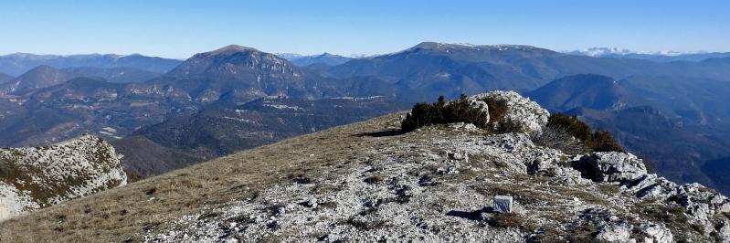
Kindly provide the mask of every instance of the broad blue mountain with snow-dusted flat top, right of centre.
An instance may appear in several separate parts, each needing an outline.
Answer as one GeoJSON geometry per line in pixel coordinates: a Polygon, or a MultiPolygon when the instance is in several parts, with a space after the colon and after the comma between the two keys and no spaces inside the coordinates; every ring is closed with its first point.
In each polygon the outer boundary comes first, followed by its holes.
{"type": "Polygon", "coordinates": [[[539,68],[519,63],[543,55],[562,55],[524,46],[466,46],[425,42],[394,54],[359,58],[329,71],[339,77],[376,76],[397,87],[401,100],[456,97],[483,90],[532,90],[543,81],[539,68]],[[527,74],[529,73],[529,74],[527,74]]]}

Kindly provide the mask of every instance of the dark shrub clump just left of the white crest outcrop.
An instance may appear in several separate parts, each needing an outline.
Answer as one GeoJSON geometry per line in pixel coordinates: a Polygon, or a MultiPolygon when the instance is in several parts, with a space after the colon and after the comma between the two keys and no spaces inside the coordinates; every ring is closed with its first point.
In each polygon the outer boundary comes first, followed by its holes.
{"type": "Polygon", "coordinates": [[[418,128],[432,124],[446,124],[452,122],[472,123],[480,128],[487,128],[489,117],[481,112],[482,107],[473,107],[466,95],[459,100],[446,102],[443,96],[435,103],[417,103],[413,110],[401,122],[400,128],[404,132],[411,132],[418,128]]]}

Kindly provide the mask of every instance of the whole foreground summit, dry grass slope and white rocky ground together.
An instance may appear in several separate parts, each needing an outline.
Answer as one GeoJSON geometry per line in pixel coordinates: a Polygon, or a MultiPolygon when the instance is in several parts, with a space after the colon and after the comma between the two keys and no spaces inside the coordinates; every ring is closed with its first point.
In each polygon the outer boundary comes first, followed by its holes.
{"type": "Polygon", "coordinates": [[[0,224],[0,239],[730,240],[724,195],[650,174],[631,153],[541,146],[534,140],[545,132],[547,111],[512,92],[471,99],[483,97],[503,99],[502,119],[524,132],[495,133],[468,123],[401,132],[405,114],[391,114],[52,206],[0,224]],[[495,210],[497,195],[512,198],[512,213],[495,210]],[[101,230],[106,233],[95,233],[101,230]]]}

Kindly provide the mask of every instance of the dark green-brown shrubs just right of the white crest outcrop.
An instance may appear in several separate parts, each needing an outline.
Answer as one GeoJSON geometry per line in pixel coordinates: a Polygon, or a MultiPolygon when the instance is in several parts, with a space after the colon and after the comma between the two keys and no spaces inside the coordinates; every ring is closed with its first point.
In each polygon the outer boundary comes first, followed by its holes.
{"type": "Polygon", "coordinates": [[[545,131],[536,142],[565,153],[624,152],[624,148],[613,138],[611,132],[591,132],[590,126],[578,120],[577,116],[562,113],[550,115],[545,131]]]}

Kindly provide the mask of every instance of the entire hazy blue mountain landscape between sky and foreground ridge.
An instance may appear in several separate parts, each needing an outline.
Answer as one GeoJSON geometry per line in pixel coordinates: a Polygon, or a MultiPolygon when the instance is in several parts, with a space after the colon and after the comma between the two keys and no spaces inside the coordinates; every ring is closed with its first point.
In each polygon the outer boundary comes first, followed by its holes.
{"type": "MultiPolygon", "coordinates": [[[[439,95],[518,90],[550,111],[578,114],[614,132],[630,151],[655,161],[660,174],[730,191],[707,169],[724,166],[718,161],[730,156],[730,58],[594,58],[435,42],[367,58],[282,57],[233,45],[184,62],[116,57],[106,66],[79,61],[69,67],[68,61],[6,72],[0,145],[48,144],[92,132],[129,153],[122,161],[128,170],[159,174],[439,95]]],[[[13,67],[0,61],[0,69],[13,67]]]]}

